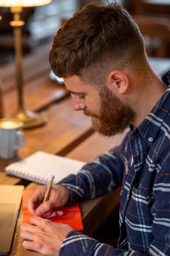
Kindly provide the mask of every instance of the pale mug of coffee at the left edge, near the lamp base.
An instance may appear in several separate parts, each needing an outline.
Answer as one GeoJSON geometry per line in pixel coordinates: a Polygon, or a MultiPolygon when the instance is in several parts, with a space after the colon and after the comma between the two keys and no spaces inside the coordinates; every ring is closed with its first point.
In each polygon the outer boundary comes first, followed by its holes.
{"type": "Polygon", "coordinates": [[[0,157],[16,157],[18,148],[25,143],[23,122],[15,118],[0,119],[0,157]]]}

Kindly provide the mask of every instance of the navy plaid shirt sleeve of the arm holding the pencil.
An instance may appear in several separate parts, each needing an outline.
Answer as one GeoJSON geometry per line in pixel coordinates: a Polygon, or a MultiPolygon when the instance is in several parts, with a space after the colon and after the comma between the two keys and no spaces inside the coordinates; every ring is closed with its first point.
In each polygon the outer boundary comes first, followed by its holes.
{"type": "Polygon", "coordinates": [[[123,152],[127,140],[128,135],[120,146],[84,165],[77,175],[71,174],[58,182],[69,189],[70,202],[104,195],[122,184],[123,152]]]}

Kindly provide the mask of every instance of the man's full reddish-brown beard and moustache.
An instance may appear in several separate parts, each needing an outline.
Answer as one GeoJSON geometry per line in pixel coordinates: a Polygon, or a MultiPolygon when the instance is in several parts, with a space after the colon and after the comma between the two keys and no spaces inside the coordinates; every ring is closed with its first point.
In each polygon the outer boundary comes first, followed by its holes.
{"type": "Polygon", "coordinates": [[[122,133],[136,117],[135,111],[130,105],[123,103],[115,97],[112,91],[103,86],[99,91],[101,106],[99,114],[83,110],[86,116],[90,116],[93,128],[105,136],[122,133]]]}

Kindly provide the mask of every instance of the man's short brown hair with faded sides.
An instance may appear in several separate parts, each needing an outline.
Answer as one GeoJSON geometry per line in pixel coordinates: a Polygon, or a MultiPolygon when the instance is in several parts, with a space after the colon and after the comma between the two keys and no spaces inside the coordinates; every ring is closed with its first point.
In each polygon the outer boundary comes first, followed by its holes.
{"type": "Polygon", "coordinates": [[[119,4],[88,4],[54,37],[50,64],[56,75],[104,83],[112,69],[140,72],[145,62],[139,27],[119,4]]]}

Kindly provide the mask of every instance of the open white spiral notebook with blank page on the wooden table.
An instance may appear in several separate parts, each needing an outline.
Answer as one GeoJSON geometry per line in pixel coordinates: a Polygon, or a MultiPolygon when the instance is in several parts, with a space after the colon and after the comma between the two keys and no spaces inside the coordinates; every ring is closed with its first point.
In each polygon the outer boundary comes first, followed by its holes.
{"type": "Polygon", "coordinates": [[[47,184],[51,176],[55,176],[54,183],[61,181],[69,174],[77,174],[85,162],[59,157],[55,154],[37,151],[30,157],[14,162],[5,168],[7,174],[47,184]]]}

